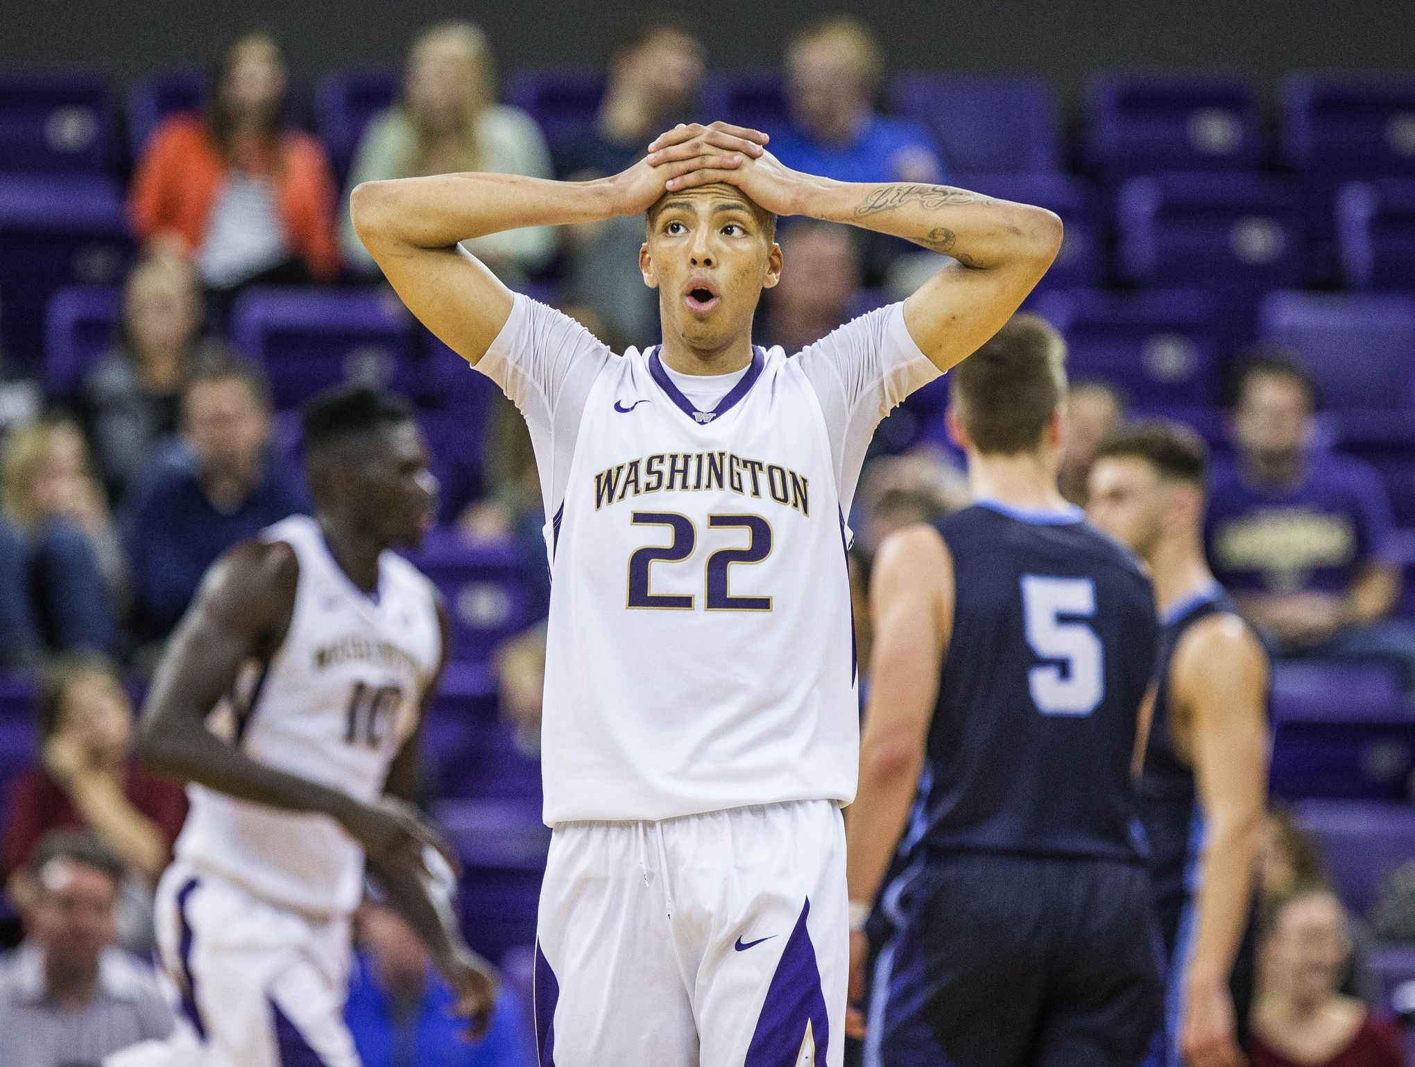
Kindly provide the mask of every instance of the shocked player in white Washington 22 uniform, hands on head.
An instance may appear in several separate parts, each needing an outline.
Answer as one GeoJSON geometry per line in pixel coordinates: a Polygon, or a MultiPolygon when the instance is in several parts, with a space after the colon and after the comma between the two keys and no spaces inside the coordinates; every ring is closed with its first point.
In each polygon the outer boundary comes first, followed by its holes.
{"type": "Polygon", "coordinates": [[[857,764],[843,517],[879,420],[1007,321],[1061,239],[1039,208],[828,181],[766,143],[678,126],[599,181],[354,191],[385,276],[516,402],[536,449],[555,835],[535,999],[558,1067],[841,1063],[839,808],[857,764]],[[642,211],[664,342],[623,355],[457,245],[642,211]],[[797,355],[764,351],[751,317],[782,270],[775,218],[797,214],[954,262],[797,355]]]}

